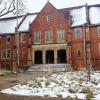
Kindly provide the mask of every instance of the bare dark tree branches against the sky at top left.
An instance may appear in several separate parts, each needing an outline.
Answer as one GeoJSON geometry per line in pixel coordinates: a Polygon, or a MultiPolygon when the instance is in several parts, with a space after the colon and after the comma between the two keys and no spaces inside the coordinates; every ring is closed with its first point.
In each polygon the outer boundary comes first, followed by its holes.
{"type": "MultiPolygon", "coordinates": [[[[18,14],[24,14],[26,7],[24,5],[25,0],[18,0],[18,14]]],[[[16,0],[0,0],[0,17],[12,13],[16,15],[16,0]]]]}

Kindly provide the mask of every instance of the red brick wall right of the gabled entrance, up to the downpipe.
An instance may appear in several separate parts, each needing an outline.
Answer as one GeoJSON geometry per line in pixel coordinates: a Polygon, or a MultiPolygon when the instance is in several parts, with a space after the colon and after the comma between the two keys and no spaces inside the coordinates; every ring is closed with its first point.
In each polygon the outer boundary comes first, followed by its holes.
{"type": "MultiPolygon", "coordinates": [[[[82,27],[81,27],[82,28],[82,27]]],[[[72,65],[74,69],[80,69],[84,67],[84,32],[82,28],[81,38],[77,39],[75,36],[75,28],[71,28],[71,55],[72,55],[72,65]],[[77,56],[77,49],[80,49],[81,55],[77,56]]]]}

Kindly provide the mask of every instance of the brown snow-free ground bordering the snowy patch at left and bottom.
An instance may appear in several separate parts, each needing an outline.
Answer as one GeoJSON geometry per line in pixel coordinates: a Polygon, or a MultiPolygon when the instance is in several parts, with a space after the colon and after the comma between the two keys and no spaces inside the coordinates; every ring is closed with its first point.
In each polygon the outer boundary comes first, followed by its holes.
{"type": "MultiPolygon", "coordinates": [[[[30,72],[30,73],[20,73],[20,74],[10,74],[0,77],[0,90],[15,86],[19,83],[24,83],[33,79],[34,77],[48,77],[52,72],[30,72]]],[[[8,95],[0,93],[0,100],[78,100],[78,99],[62,99],[59,98],[48,98],[48,97],[32,97],[32,96],[18,96],[18,95],[8,95]]]]}

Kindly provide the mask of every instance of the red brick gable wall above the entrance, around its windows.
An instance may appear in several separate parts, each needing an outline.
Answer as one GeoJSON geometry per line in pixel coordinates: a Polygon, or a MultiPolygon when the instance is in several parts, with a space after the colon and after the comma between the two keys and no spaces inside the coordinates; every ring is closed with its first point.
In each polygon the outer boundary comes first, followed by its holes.
{"type": "MultiPolygon", "coordinates": [[[[57,43],[57,29],[68,29],[68,20],[59,13],[51,4],[47,4],[40,12],[38,17],[31,24],[32,43],[34,44],[34,32],[41,31],[41,44],[45,44],[45,32],[52,31],[53,43],[57,43]],[[51,16],[50,25],[47,23],[46,16],[51,16]]],[[[67,34],[67,33],[66,33],[67,34]]],[[[65,39],[67,36],[65,35],[65,39]]]]}

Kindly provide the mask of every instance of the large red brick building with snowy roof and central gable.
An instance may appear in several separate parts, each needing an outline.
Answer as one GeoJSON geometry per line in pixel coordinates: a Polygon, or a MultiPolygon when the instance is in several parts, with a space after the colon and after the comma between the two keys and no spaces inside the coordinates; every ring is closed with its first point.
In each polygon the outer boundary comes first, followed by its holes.
{"type": "MultiPolygon", "coordinates": [[[[15,20],[0,19],[1,68],[16,68],[15,20]]],[[[99,25],[100,5],[56,9],[47,2],[39,13],[19,16],[20,66],[69,63],[76,70],[85,69],[86,64],[98,69],[99,25]]]]}

